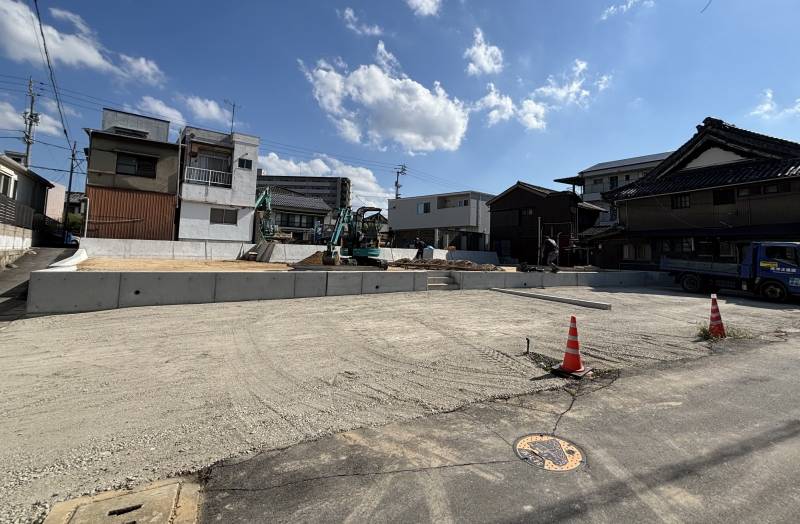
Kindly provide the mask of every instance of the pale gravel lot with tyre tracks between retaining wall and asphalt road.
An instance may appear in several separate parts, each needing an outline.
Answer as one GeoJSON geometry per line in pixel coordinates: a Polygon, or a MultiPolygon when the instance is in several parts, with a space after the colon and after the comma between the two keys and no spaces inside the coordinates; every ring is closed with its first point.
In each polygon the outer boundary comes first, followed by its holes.
{"type": "MultiPolygon", "coordinates": [[[[558,292],[613,309],[452,291],[12,322],[0,330],[0,521],[254,450],[559,387],[563,380],[539,367],[543,358],[523,355],[525,338],[532,351],[560,358],[573,314],[585,360],[597,368],[711,351],[696,337],[706,297],[558,292]]],[[[796,304],[722,298],[720,308],[759,343],[800,331],[796,304]]]]}

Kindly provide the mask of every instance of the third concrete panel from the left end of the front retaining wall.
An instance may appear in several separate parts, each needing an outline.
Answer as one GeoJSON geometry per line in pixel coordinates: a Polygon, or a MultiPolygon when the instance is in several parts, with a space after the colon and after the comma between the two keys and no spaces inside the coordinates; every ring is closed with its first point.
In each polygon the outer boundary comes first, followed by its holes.
{"type": "Polygon", "coordinates": [[[294,297],[293,272],[216,273],[215,302],[294,297]]]}

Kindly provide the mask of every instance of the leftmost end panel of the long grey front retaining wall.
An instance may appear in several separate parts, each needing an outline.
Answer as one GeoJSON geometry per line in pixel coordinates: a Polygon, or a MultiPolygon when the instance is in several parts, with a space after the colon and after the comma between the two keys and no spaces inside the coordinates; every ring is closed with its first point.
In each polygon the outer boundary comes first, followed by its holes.
{"type": "Polygon", "coordinates": [[[28,313],[73,313],[119,306],[119,273],[34,271],[28,313]]]}

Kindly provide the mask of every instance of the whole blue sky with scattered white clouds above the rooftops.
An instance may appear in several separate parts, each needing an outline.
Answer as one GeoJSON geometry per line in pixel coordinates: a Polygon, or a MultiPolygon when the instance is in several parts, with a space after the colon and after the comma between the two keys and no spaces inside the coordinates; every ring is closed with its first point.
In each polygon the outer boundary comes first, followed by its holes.
{"type": "MultiPolygon", "coordinates": [[[[399,163],[406,196],[499,193],[674,149],[706,116],[800,140],[800,4],[706,4],[40,0],[40,10],[79,148],[103,105],[224,130],[233,100],[236,129],[262,138],[271,172],[350,176],[355,204],[385,206],[399,163]]],[[[32,5],[0,0],[4,137],[22,125],[22,79],[48,82],[32,5]]],[[[64,146],[52,100],[39,102],[37,138],[64,146]]],[[[37,143],[33,164],[66,169],[65,153],[37,143]]]]}

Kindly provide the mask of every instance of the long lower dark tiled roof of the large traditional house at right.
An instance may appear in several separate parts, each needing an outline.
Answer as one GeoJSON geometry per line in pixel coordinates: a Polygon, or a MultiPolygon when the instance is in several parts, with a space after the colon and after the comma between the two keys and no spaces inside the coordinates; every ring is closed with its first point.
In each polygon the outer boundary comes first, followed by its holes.
{"type": "Polygon", "coordinates": [[[603,197],[610,200],[628,200],[790,177],[800,177],[800,158],[744,160],[676,171],[659,178],[647,176],[633,184],[604,193],[603,197]]]}

